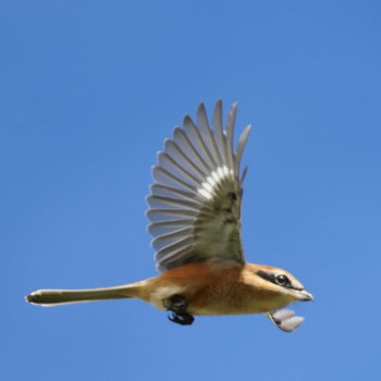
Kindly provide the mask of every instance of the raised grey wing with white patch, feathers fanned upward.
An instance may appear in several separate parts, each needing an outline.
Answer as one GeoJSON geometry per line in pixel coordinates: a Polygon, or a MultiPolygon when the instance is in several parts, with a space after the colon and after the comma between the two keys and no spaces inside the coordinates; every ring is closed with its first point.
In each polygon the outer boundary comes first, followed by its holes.
{"type": "Polygon", "coordinates": [[[160,271],[196,261],[244,262],[241,201],[246,168],[239,176],[239,163],[250,126],[234,150],[236,110],[233,105],[223,128],[222,101],[216,103],[211,126],[199,105],[196,123],[186,115],[158,153],[147,217],[160,271]]]}

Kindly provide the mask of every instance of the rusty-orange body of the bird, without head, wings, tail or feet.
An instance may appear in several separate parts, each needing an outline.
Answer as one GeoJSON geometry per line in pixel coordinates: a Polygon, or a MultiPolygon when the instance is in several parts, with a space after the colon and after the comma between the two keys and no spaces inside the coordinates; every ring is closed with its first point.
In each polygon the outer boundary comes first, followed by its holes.
{"type": "Polygon", "coordinates": [[[282,307],[263,297],[263,290],[238,266],[187,265],[151,279],[149,290],[146,300],[157,308],[165,309],[164,300],[180,295],[186,311],[196,316],[263,314],[282,307]]]}

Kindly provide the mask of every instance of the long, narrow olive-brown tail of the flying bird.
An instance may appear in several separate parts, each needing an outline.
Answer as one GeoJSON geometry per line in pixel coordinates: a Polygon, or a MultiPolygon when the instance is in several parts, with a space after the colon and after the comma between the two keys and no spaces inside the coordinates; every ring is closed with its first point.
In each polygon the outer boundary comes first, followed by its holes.
{"type": "Polygon", "coordinates": [[[57,306],[70,303],[142,297],[144,282],[90,290],[38,290],[25,299],[34,305],[57,306]]]}

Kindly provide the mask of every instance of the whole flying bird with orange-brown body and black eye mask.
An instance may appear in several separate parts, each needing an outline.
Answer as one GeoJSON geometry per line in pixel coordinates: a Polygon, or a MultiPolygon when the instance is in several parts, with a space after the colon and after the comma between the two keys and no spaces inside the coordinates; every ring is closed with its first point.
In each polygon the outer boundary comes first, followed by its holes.
{"type": "Polygon", "coordinates": [[[236,113],[233,103],[223,123],[220,99],[209,120],[201,102],[196,119],[186,114],[157,155],[146,216],[158,275],[102,288],[38,290],[26,300],[56,306],[139,298],[181,325],[190,325],[195,316],[262,314],[284,332],[297,329],[305,319],[284,307],[314,300],[312,294],[290,272],[244,256],[241,206],[247,167],[241,172],[241,161],[251,126],[234,147],[236,113]]]}

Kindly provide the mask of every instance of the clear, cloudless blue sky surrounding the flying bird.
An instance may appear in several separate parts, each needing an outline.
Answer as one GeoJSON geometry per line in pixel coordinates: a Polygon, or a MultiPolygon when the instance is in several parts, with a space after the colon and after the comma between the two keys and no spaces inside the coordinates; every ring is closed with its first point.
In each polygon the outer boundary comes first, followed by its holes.
{"type": "Polygon", "coordinates": [[[2,380],[380,380],[380,1],[2,1],[2,380]],[[246,258],[314,293],[262,316],[168,321],[37,288],[156,274],[150,167],[199,101],[238,101],[246,258]]]}

